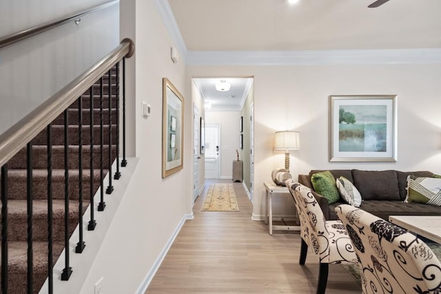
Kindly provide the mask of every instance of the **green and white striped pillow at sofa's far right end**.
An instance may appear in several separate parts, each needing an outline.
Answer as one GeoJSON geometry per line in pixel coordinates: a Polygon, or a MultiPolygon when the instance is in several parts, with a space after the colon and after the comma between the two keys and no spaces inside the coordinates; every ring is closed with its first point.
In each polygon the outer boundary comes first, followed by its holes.
{"type": "Polygon", "coordinates": [[[407,178],[405,202],[416,202],[441,206],[441,178],[407,178]]]}

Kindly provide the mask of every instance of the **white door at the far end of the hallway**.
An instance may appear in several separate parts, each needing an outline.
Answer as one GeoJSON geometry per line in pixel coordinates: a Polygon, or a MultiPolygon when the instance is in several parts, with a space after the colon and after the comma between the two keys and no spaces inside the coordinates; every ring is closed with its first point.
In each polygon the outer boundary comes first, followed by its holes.
{"type": "Polygon", "coordinates": [[[220,178],[220,124],[205,124],[205,178],[220,178]]]}

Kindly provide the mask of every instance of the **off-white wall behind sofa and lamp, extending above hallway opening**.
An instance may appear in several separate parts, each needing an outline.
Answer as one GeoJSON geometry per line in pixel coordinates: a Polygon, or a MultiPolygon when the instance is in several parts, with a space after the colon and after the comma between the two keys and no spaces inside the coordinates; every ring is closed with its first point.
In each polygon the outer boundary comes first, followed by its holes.
{"type": "MultiPolygon", "coordinates": [[[[301,149],[291,152],[291,173],[310,169],[399,169],[441,172],[441,67],[407,65],[189,66],[192,76],[253,75],[255,117],[254,218],[265,213],[263,182],[283,166],[273,153],[274,132],[296,129],[301,149]],[[398,95],[397,162],[329,162],[328,96],[398,95]]],[[[289,200],[287,200],[289,202],[289,200]]],[[[284,203],[274,213],[284,214],[284,203]]]]}

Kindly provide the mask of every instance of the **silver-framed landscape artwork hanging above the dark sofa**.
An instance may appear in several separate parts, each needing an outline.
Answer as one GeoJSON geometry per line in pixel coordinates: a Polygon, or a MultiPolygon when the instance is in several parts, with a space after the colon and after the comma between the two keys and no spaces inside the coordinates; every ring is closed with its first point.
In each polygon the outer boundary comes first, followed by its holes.
{"type": "Polygon", "coordinates": [[[397,96],[329,96],[329,161],[397,160],[397,96]]]}

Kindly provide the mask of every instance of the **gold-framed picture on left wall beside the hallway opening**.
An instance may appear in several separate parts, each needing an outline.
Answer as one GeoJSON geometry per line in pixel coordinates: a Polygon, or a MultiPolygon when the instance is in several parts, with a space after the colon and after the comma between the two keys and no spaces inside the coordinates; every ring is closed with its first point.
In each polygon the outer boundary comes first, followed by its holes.
{"type": "Polygon", "coordinates": [[[163,78],[163,178],[183,169],[184,97],[163,78]]]}

